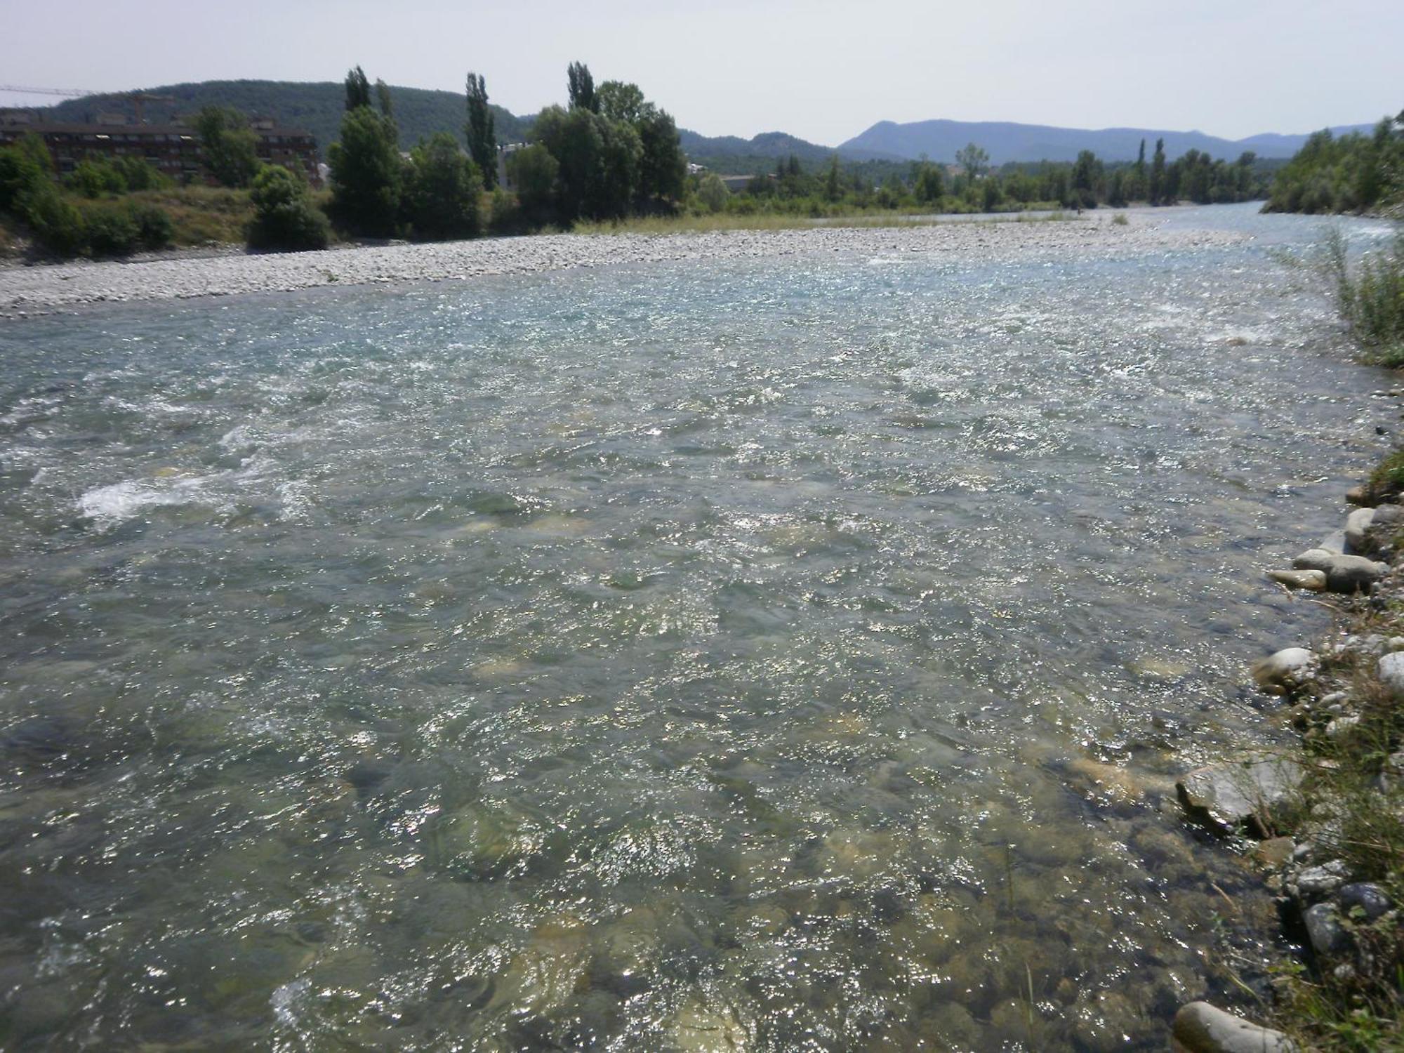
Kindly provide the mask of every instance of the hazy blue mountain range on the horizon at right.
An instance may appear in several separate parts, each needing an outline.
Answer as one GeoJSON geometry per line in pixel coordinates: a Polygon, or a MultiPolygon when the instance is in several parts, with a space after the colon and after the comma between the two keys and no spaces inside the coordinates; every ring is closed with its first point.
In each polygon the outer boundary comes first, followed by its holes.
{"type": "MultiPolygon", "coordinates": [[[[1369,131],[1370,125],[1348,125],[1335,133],[1369,131]]],[[[1248,139],[1220,139],[1203,132],[1165,132],[1150,128],[1052,128],[1021,125],[1009,121],[882,121],[862,135],[842,143],[838,150],[849,157],[897,156],[915,160],[953,161],[956,150],[979,143],[990,153],[993,164],[1007,161],[1071,161],[1091,150],[1106,161],[1133,161],[1141,140],[1151,146],[1165,140],[1165,156],[1179,157],[1199,150],[1213,157],[1237,157],[1252,150],[1259,157],[1290,157],[1306,143],[1306,135],[1254,135],[1248,139]]]]}

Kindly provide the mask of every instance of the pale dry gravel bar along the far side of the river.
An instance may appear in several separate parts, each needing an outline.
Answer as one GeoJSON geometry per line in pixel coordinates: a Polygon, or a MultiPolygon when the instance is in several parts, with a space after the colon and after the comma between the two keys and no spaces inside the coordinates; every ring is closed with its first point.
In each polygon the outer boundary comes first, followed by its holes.
{"type": "Polygon", "coordinates": [[[967,222],[678,234],[542,234],[265,256],[181,254],[125,263],[3,267],[0,317],[49,314],[101,302],[291,292],[331,284],[466,281],[491,274],[675,260],[892,251],[988,260],[1028,253],[1140,253],[1209,247],[1237,237],[1209,230],[1165,230],[1141,219],[1123,226],[1111,223],[1109,216],[1090,216],[1036,223],[967,222]]]}

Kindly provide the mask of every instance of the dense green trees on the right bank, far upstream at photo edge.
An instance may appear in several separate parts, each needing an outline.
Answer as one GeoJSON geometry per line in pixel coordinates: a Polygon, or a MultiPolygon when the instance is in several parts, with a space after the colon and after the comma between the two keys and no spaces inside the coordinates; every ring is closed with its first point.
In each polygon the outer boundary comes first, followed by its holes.
{"type": "Polygon", "coordinates": [[[1404,111],[1369,135],[1321,131],[1272,181],[1265,212],[1389,212],[1404,208],[1404,111]]]}

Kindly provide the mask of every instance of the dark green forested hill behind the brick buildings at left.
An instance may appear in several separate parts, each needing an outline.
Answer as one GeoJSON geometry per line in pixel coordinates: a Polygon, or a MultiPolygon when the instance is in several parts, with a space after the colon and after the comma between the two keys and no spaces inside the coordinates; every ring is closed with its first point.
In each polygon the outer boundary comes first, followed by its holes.
{"type": "MultiPolygon", "coordinates": [[[[146,91],[174,97],[170,102],[146,104],[146,119],[150,122],[163,121],[173,114],[192,115],[205,105],[236,107],[246,114],[272,117],[282,125],[306,128],[317,138],[317,149],[323,156],[337,139],[347,97],[345,86],[340,81],[206,80],[198,84],[166,84],[146,91]]],[[[452,132],[463,142],[463,125],[468,122],[465,93],[392,87],[390,94],[404,149],[435,132],[452,132]]],[[[86,95],[59,102],[44,112],[55,121],[90,121],[100,112],[131,115],[132,104],[121,95],[86,95]]],[[[493,107],[493,112],[498,142],[525,139],[531,118],[514,117],[498,105],[493,107]]]]}

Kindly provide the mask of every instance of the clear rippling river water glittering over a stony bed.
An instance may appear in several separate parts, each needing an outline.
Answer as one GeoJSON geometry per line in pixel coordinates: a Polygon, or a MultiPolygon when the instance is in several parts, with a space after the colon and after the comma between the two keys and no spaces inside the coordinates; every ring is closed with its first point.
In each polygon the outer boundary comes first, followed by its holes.
{"type": "Polygon", "coordinates": [[[0,1045],[1161,1049],[1394,421],[1146,222],[6,324],[0,1045]]]}

